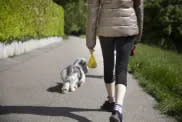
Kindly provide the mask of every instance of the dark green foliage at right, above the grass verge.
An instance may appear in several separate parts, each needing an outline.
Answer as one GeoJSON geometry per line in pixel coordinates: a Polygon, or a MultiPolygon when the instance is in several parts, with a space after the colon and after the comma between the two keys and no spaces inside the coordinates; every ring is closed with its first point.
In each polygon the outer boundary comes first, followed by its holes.
{"type": "Polygon", "coordinates": [[[145,1],[144,15],[143,42],[182,52],[181,0],[145,1]]]}

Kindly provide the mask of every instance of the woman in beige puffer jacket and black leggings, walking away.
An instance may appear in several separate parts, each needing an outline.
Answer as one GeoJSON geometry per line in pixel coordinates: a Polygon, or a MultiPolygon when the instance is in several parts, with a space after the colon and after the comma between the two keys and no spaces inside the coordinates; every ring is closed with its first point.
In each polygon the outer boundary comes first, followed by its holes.
{"type": "Polygon", "coordinates": [[[87,47],[94,51],[99,36],[108,100],[101,109],[112,111],[110,122],[122,122],[128,59],[143,30],[143,0],[88,0],[87,47]],[[116,65],[114,61],[116,51],[116,65]],[[115,81],[113,70],[115,69],[115,81]]]}

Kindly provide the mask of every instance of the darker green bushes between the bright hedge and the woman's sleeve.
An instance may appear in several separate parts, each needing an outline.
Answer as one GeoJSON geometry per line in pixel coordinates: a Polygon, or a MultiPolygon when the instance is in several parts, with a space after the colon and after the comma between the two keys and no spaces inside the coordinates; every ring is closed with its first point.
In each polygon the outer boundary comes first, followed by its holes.
{"type": "Polygon", "coordinates": [[[86,0],[54,0],[65,10],[65,33],[86,34],[87,1],[86,0]]]}

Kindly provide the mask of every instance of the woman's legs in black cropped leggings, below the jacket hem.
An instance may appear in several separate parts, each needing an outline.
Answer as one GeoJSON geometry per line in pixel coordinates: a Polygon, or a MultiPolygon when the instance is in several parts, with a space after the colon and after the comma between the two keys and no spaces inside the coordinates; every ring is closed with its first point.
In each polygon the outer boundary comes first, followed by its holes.
{"type": "Polygon", "coordinates": [[[108,93],[108,101],[104,105],[113,105],[114,110],[118,111],[121,115],[127,86],[128,61],[134,43],[133,39],[133,36],[100,36],[104,61],[104,81],[108,93]]]}

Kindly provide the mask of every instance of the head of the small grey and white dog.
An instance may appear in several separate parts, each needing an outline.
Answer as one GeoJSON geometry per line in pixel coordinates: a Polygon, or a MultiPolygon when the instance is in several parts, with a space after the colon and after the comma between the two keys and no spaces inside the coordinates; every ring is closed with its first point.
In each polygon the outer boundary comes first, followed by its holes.
{"type": "Polygon", "coordinates": [[[87,61],[84,58],[79,58],[75,60],[73,64],[79,65],[83,69],[85,74],[88,72],[87,61]]]}

